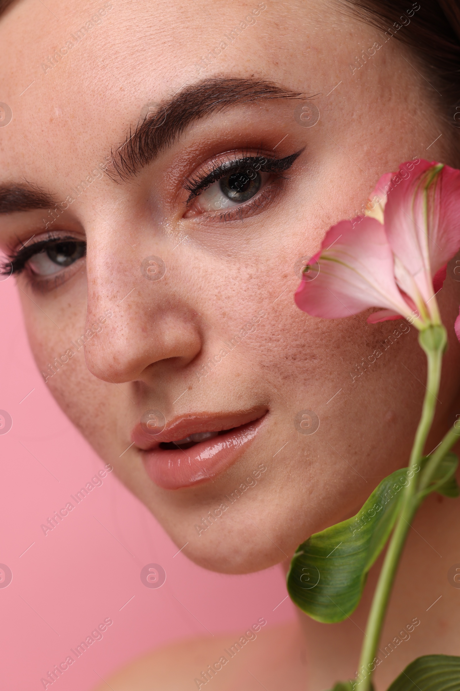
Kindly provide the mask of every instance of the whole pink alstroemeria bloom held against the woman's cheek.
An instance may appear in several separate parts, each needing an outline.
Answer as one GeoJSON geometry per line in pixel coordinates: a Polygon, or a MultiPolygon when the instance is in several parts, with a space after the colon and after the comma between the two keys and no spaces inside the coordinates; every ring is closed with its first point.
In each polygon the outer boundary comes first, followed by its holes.
{"type": "MultiPolygon", "coordinates": [[[[297,306],[326,319],[381,307],[369,323],[402,316],[420,330],[440,324],[434,295],[460,249],[460,171],[403,163],[380,178],[365,214],[330,228],[305,269],[297,306]]],[[[455,328],[460,340],[460,316],[455,328]]]]}

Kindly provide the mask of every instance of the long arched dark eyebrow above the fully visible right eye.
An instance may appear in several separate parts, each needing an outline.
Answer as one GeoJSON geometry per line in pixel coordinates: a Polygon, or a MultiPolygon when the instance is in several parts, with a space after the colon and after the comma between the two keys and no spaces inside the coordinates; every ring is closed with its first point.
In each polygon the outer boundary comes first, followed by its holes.
{"type": "Polygon", "coordinates": [[[159,104],[150,118],[139,121],[126,140],[111,151],[112,179],[126,180],[135,176],[168,146],[174,144],[186,127],[201,117],[223,111],[233,104],[259,100],[305,98],[297,91],[288,91],[262,79],[212,78],[186,86],[178,95],[159,104]]]}

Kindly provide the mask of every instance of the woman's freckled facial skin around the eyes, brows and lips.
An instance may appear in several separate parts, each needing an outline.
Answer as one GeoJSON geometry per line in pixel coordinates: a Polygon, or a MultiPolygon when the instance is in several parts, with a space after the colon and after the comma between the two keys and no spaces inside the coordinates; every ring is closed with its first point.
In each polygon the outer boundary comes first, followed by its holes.
{"type": "MultiPolygon", "coordinates": [[[[314,103],[320,120],[300,126],[293,117],[297,102],[273,100],[194,123],[137,177],[123,184],[106,175],[94,180],[53,224],[88,243],[86,262],[70,269],[62,285],[34,290],[26,275],[18,283],[43,372],[104,312],[112,312],[101,332],[48,379],[52,395],[172,540],[179,547],[188,542],[183,553],[208,569],[241,574],[277,564],[311,533],[352,515],[382,477],[407,463],[423,397],[419,380],[425,380],[415,330],[383,350],[399,322],[368,325],[368,314],[336,321],[304,314],[292,298],[299,283],[294,265],[317,252],[330,225],[359,213],[381,174],[426,155],[441,115],[423,79],[403,59],[416,58],[394,39],[352,73],[354,56],[380,34],[333,3],[268,0],[257,23],[207,68],[199,67],[203,50],[218,45],[255,3],[200,3],[210,21],[193,3],[153,4],[154,11],[151,2],[139,1],[134,12],[129,3],[117,3],[86,37],[84,50],[75,46],[47,74],[39,66],[50,54],[50,41],[64,44],[99,5],[59,3],[58,14],[74,19],[52,36],[43,8],[32,0],[15,3],[0,19],[2,98],[14,112],[0,131],[6,181],[30,180],[66,199],[106,160],[110,147],[123,142],[144,104],[205,77],[255,75],[319,94],[314,103]],[[19,25],[20,46],[14,39],[19,25]],[[177,40],[185,35],[186,41],[177,40]],[[18,85],[31,81],[31,66],[37,84],[19,101],[18,85]],[[421,108],[426,117],[418,117],[421,108]],[[183,182],[200,162],[233,149],[257,151],[261,142],[267,150],[279,146],[281,156],[305,150],[286,179],[273,184],[258,213],[230,222],[184,218],[183,182]],[[166,264],[161,281],[148,281],[141,272],[151,255],[166,264]],[[266,316],[256,330],[199,379],[201,365],[219,353],[222,341],[261,312],[266,316]],[[381,357],[353,381],[350,372],[356,374],[361,358],[378,348],[381,357]],[[146,474],[137,448],[126,451],[146,410],[158,408],[171,419],[252,406],[268,408],[263,432],[214,482],[161,489],[146,474]],[[294,426],[306,409],[320,419],[313,435],[294,426]],[[198,536],[194,524],[261,463],[267,471],[245,503],[198,536]]],[[[430,156],[457,167],[453,136],[446,133],[430,156]]],[[[46,210],[1,219],[3,249],[43,234],[43,216],[46,210]]],[[[452,326],[459,302],[460,283],[450,269],[439,296],[450,347],[430,448],[452,422],[458,398],[460,347],[452,326]]],[[[343,669],[337,674],[354,672],[343,669]]],[[[332,681],[321,677],[318,688],[332,681]]]]}

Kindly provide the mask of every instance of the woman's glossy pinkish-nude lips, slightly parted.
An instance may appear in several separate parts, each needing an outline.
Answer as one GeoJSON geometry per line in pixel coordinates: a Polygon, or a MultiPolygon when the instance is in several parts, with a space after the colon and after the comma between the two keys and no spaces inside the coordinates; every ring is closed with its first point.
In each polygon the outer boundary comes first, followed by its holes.
{"type": "Polygon", "coordinates": [[[237,413],[184,415],[158,435],[148,435],[140,424],[132,440],[141,451],[144,467],[153,482],[163,489],[180,489],[212,480],[236,462],[257,435],[267,408],[252,408],[237,413]],[[161,442],[175,442],[199,432],[228,432],[205,439],[186,449],[166,450],[161,442]]]}

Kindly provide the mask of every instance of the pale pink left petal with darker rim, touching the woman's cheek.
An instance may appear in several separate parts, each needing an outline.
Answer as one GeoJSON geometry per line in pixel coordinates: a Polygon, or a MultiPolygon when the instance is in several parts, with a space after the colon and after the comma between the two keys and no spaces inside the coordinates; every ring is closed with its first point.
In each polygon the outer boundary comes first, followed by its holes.
{"type": "Polygon", "coordinates": [[[385,228],[367,216],[343,220],[326,234],[310,274],[304,274],[294,296],[312,316],[339,319],[369,307],[386,307],[410,316],[393,275],[393,256],[385,228]],[[318,272],[319,268],[319,272],[318,272]]]}

